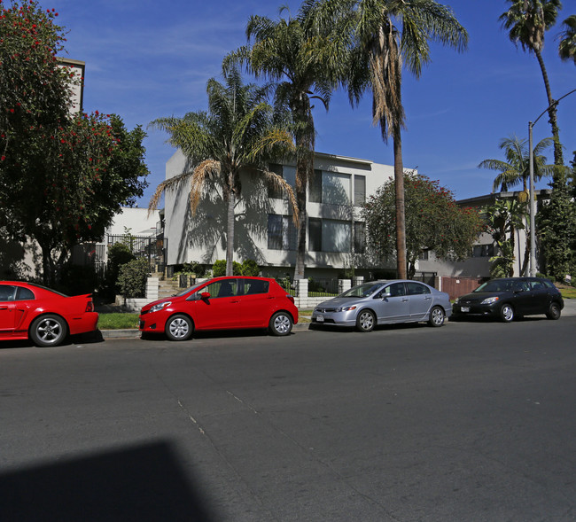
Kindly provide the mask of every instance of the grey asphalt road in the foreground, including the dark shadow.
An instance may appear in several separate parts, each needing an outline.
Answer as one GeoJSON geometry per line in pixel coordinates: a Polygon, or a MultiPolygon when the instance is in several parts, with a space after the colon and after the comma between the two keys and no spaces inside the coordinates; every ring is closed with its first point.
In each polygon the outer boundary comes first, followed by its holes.
{"type": "Polygon", "coordinates": [[[0,520],[574,520],[575,333],[4,343],[0,520]]]}

